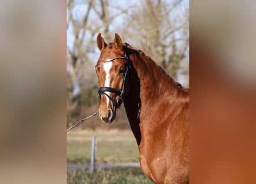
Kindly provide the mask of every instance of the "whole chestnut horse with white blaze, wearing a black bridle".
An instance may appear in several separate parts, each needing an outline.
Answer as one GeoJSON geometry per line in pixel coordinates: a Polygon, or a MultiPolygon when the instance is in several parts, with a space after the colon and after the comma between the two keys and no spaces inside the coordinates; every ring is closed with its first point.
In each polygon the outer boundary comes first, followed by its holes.
{"type": "Polygon", "coordinates": [[[140,167],[154,183],[189,183],[189,89],[142,51],[97,37],[99,116],[111,123],[124,102],[140,167]]]}

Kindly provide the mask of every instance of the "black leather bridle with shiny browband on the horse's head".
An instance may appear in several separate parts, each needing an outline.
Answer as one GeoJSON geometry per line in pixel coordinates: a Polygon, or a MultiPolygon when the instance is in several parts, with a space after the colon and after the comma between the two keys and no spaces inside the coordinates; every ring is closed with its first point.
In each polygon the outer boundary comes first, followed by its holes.
{"type": "Polygon", "coordinates": [[[114,59],[118,59],[118,58],[125,59],[125,73],[124,73],[124,81],[123,81],[121,91],[117,90],[117,89],[114,89],[113,87],[100,87],[98,89],[98,102],[101,103],[101,95],[105,94],[113,102],[113,105],[114,105],[115,109],[119,109],[122,106],[123,94],[124,94],[124,85],[125,85],[125,81],[127,79],[128,70],[130,68],[129,63],[128,63],[128,57],[126,55],[126,52],[124,52],[124,56],[117,56],[117,57],[114,57],[110,60],[103,60],[100,57],[98,58],[102,62],[105,62],[105,63],[112,62],[114,59]],[[117,95],[119,95],[119,98],[117,98],[117,100],[115,100],[115,99],[111,98],[108,94],[106,94],[105,92],[116,93],[117,95]]]}

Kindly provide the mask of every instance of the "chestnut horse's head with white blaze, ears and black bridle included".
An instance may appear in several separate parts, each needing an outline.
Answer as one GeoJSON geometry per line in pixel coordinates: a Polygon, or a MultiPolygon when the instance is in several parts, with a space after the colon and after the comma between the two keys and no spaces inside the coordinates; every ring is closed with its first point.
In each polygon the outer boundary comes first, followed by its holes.
{"type": "Polygon", "coordinates": [[[101,51],[95,66],[99,87],[99,115],[103,122],[111,123],[116,118],[116,109],[121,107],[123,97],[129,91],[128,57],[118,34],[115,34],[114,43],[107,45],[99,33],[97,46],[101,51]]]}

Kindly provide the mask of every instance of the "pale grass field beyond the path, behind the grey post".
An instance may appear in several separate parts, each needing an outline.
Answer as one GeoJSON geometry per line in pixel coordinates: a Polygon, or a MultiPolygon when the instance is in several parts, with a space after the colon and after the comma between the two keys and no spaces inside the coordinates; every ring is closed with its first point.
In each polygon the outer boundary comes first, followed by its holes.
{"type": "Polygon", "coordinates": [[[139,162],[131,131],[73,131],[67,133],[67,163],[90,163],[91,137],[97,137],[96,163],[139,162]]]}

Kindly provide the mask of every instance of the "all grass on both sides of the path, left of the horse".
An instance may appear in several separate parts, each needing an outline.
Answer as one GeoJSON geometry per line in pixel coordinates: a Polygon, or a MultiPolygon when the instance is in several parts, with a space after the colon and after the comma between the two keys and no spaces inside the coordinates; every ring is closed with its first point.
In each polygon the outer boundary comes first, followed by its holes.
{"type": "MultiPolygon", "coordinates": [[[[130,130],[75,130],[67,133],[67,164],[90,163],[91,137],[97,137],[96,163],[139,162],[139,151],[130,130]]],[[[140,168],[98,168],[93,177],[89,169],[68,169],[67,183],[152,183],[140,168]]]]}

